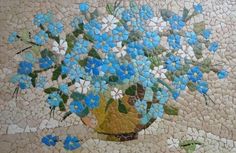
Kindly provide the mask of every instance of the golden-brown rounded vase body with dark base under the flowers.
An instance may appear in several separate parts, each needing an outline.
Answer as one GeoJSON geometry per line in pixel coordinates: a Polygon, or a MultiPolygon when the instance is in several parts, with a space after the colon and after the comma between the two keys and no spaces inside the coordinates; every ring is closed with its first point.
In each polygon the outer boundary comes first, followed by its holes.
{"type": "Polygon", "coordinates": [[[106,109],[106,98],[100,96],[100,105],[91,111],[91,114],[82,118],[85,125],[93,128],[99,137],[109,141],[128,141],[138,137],[138,132],[147,128],[153,120],[146,125],[140,124],[142,117],[136,111],[131,96],[124,96],[122,102],[128,113],[121,113],[118,110],[118,102],[113,101],[106,109]]]}

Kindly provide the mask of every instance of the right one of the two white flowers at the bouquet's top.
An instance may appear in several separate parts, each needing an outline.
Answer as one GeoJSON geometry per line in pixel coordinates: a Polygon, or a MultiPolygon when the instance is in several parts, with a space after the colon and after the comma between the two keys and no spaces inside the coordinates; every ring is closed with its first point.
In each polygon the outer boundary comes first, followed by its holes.
{"type": "Polygon", "coordinates": [[[147,26],[153,31],[158,30],[159,32],[163,32],[163,30],[167,28],[167,22],[165,22],[162,17],[153,17],[147,21],[147,26]]]}

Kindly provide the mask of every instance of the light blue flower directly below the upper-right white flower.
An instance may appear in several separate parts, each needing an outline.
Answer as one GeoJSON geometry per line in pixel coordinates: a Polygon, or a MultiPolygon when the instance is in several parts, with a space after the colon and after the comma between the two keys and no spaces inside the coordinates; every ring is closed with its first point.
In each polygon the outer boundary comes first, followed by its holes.
{"type": "Polygon", "coordinates": [[[143,45],[147,49],[154,49],[160,44],[160,36],[156,32],[146,32],[143,45]]]}

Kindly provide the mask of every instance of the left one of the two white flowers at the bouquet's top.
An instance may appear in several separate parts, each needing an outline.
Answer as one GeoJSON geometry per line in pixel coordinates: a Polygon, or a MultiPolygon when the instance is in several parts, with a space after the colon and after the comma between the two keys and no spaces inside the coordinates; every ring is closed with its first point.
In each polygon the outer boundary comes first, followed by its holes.
{"type": "Polygon", "coordinates": [[[116,28],[116,23],[119,22],[119,20],[113,15],[108,15],[107,17],[104,17],[102,19],[102,22],[102,30],[104,30],[105,32],[109,32],[116,28]]]}

